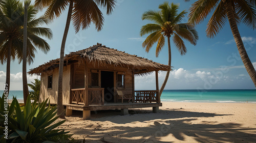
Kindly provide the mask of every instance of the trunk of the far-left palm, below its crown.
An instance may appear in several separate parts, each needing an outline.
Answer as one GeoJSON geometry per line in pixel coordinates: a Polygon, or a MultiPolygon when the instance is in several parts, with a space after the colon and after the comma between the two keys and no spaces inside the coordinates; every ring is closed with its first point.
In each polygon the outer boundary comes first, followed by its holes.
{"type": "MultiPolygon", "coordinates": [[[[10,75],[11,75],[11,52],[12,52],[12,38],[8,41],[8,50],[7,50],[7,66],[6,66],[6,84],[5,88],[7,88],[7,95],[9,95],[10,91],[10,75]]],[[[6,89],[4,89],[6,90],[6,89]]]]}

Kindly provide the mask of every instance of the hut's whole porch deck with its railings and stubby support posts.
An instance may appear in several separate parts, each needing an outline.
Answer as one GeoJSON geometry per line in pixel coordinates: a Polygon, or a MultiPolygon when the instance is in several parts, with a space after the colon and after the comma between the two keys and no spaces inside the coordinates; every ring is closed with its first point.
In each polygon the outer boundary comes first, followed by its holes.
{"type": "Polygon", "coordinates": [[[122,115],[127,115],[129,108],[153,107],[153,112],[157,112],[162,106],[159,91],[135,91],[133,103],[104,102],[104,89],[75,89],[72,90],[71,104],[66,104],[66,116],[72,115],[72,110],[82,110],[83,120],[91,119],[91,111],[121,109],[122,115]],[[84,94],[89,91],[89,94],[84,94]],[[84,96],[89,95],[89,96],[84,96]],[[73,103],[73,104],[72,104],[73,103]]]}

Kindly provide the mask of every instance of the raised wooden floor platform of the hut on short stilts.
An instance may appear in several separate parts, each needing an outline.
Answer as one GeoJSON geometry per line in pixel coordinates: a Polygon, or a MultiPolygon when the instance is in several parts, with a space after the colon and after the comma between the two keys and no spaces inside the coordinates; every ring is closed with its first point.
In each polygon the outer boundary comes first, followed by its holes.
{"type": "Polygon", "coordinates": [[[110,109],[121,109],[123,115],[128,113],[129,108],[147,108],[153,107],[153,112],[157,112],[159,106],[162,106],[162,103],[105,103],[104,105],[76,105],[76,104],[66,104],[66,116],[72,115],[72,110],[82,110],[83,119],[89,120],[91,118],[91,111],[94,110],[110,110],[110,109]]]}

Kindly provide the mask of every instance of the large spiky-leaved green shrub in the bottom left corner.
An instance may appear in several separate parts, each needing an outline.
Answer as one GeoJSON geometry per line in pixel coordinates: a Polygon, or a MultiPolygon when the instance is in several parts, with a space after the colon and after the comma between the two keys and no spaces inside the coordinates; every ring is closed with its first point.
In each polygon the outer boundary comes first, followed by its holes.
{"type": "MultiPolygon", "coordinates": [[[[62,139],[66,136],[67,140],[71,138],[68,132],[63,129],[55,129],[63,124],[65,120],[52,124],[58,119],[56,115],[56,106],[47,107],[47,101],[42,103],[30,101],[27,99],[27,104],[24,110],[19,106],[16,98],[13,98],[12,103],[8,105],[8,139],[5,139],[5,115],[4,98],[0,97],[0,142],[53,142],[62,139]]],[[[50,105],[50,101],[48,103],[50,105]]],[[[63,141],[64,142],[64,141],[63,141]]]]}

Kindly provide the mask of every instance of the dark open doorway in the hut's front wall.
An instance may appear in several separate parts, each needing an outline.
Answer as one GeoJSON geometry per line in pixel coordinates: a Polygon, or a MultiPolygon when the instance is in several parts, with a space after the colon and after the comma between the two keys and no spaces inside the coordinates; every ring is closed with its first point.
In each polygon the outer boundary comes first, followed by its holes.
{"type": "Polygon", "coordinates": [[[101,88],[105,102],[114,102],[114,72],[101,71],[101,88]]]}

